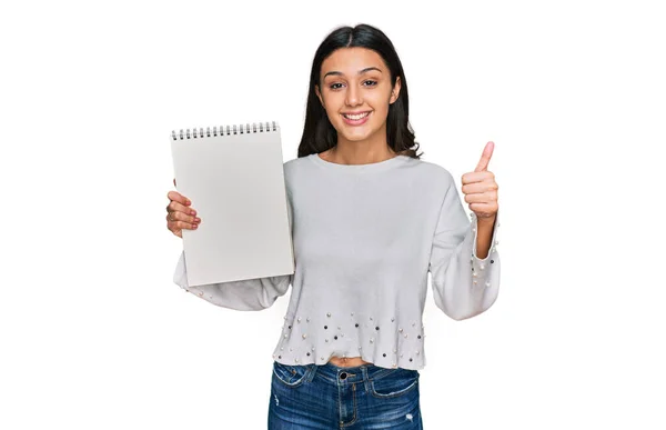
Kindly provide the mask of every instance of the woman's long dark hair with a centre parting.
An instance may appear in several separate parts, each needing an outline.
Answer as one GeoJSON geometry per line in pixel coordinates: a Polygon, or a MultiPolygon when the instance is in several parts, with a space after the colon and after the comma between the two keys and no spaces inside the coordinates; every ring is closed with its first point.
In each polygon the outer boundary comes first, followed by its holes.
{"type": "Polygon", "coordinates": [[[316,96],[315,87],[320,84],[322,63],[330,54],[340,48],[356,47],[372,49],[382,57],[391,72],[392,87],[395,86],[396,78],[400,77],[400,94],[397,100],[389,106],[386,140],[395,152],[418,159],[423,153],[416,153],[418,143],[414,140],[414,130],[408,121],[410,98],[402,63],[386,34],[369,24],[340,27],[333,30],[317,48],[310,72],[305,124],[301,144],[299,144],[299,158],[323,152],[337,144],[337,131],[329,121],[326,111],[316,96]]]}

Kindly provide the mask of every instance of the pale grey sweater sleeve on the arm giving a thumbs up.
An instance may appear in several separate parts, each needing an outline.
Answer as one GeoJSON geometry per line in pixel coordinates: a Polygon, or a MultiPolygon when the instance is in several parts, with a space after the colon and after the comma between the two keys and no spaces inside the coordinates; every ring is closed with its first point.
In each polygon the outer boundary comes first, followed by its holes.
{"type": "Polygon", "coordinates": [[[454,320],[464,320],[486,311],[497,299],[500,254],[495,246],[500,211],[488,254],[480,259],[476,256],[477,217],[472,212],[472,221],[468,221],[451,179],[433,237],[428,270],[435,304],[454,320]]]}

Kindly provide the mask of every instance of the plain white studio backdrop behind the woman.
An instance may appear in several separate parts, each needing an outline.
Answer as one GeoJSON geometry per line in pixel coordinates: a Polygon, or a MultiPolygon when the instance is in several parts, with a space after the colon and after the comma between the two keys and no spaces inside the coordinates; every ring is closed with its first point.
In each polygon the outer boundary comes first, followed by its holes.
{"type": "Polygon", "coordinates": [[[0,428],[265,428],[291,290],[241,312],[173,283],[168,137],[279,121],[295,158],[314,51],[366,22],[423,160],[460,190],[495,142],[500,297],[454,321],[428,281],[425,428],[664,429],[657,6],[3,4],[0,428]]]}

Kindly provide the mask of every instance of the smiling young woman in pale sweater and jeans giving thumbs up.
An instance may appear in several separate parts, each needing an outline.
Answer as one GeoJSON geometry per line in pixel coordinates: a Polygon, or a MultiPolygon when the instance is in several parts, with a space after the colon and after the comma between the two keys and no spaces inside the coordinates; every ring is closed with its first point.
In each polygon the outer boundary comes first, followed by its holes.
{"type": "MultiPolygon", "coordinates": [[[[292,286],[270,429],[421,429],[427,273],[451,318],[495,301],[493,143],[462,178],[472,220],[452,174],[417,148],[391,41],[366,24],[336,29],[314,56],[299,158],[284,163],[295,273],[190,287],[181,254],[174,282],[221,307],[264,309],[292,286]]],[[[169,230],[196,229],[193,202],[168,197],[169,230]]]]}

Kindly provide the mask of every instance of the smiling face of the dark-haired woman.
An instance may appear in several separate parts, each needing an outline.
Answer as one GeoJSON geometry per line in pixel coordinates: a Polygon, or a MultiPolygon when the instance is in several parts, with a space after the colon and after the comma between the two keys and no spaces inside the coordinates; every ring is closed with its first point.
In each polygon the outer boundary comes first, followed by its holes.
{"type": "Polygon", "coordinates": [[[400,77],[391,87],[391,72],[382,57],[365,48],[341,48],[322,63],[321,88],[315,88],[329,121],[341,140],[382,141],[386,144],[389,104],[397,100],[400,77]]]}

